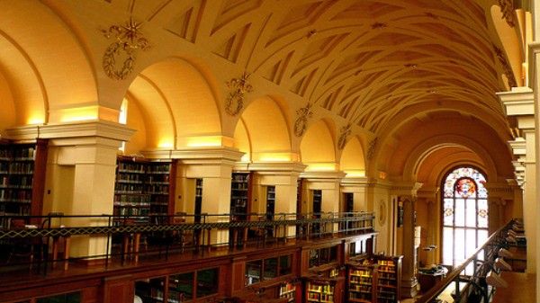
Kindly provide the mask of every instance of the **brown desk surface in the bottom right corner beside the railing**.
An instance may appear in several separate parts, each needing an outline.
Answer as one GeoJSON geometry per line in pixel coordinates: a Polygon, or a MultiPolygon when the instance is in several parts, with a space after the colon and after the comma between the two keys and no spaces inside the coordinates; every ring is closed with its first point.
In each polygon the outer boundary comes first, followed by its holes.
{"type": "Polygon", "coordinates": [[[498,287],[491,303],[535,302],[536,274],[501,272],[500,277],[509,283],[509,287],[498,287]]]}

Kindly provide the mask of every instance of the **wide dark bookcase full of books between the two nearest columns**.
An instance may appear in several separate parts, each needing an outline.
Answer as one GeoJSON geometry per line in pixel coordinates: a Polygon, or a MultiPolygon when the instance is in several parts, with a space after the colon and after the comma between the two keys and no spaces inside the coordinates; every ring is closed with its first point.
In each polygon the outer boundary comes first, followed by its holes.
{"type": "Polygon", "coordinates": [[[114,185],[114,216],[136,224],[163,224],[174,213],[175,161],[119,157],[114,185]]]}

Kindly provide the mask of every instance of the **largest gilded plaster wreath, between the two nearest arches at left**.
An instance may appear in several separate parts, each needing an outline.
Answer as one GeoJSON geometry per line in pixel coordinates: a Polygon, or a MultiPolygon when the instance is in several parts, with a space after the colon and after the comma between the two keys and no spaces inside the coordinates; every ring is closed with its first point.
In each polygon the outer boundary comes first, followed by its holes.
{"type": "Polygon", "coordinates": [[[102,30],[105,38],[114,38],[114,42],[105,49],[103,54],[103,70],[107,76],[114,80],[123,80],[130,76],[135,65],[137,50],[150,49],[148,40],[140,37],[142,22],[134,22],[131,18],[125,25],[112,25],[108,30],[102,30]],[[117,59],[123,56],[121,64],[117,59]]]}

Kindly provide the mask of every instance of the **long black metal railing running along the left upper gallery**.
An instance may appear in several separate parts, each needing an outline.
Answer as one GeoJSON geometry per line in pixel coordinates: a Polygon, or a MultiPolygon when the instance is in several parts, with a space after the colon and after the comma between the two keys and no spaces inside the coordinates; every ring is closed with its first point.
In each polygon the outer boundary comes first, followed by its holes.
{"type": "MultiPolygon", "coordinates": [[[[322,237],[374,233],[373,212],[322,212],[279,214],[201,214],[174,216],[76,216],[50,213],[48,216],[0,217],[0,265],[17,267],[30,264],[47,274],[50,265],[76,259],[103,259],[109,263],[139,260],[139,255],[167,259],[169,254],[207,254],[212,248],[242,250],[322,237]],[[237,218],[245,218],[238,220],[237,218]],[[225,233],[229,236],[211,236],[225,233]],[[103,254],[58,257],[58,243],[69,251],[77,237],[99,239],[103,254]],[[216,238],[229,239],[226,243],[216,238]],[[212,240],[211,240],[212,239],[212,240]],[[16,250],[26,249],[14,257],[16,250]],[[23,257],[19,257],[23,255],[23,257]]],[[[68,254],[68,253],[67,253],[68,254]]]]}

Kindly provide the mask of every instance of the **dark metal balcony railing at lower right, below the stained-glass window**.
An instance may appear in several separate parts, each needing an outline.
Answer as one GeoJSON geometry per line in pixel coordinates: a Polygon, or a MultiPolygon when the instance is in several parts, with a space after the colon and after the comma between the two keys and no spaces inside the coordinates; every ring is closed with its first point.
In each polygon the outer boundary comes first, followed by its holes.
{"type": "Polygon", "coordinates": [[[463,264],[450,272],[445,279],[439,281],[416,302],[439,301],[437,297],[446,288],[452,287],[453,282],[455,283],[452,293],[454,302],[491,302],[495,289],[504,283],[500,280],[500,271],[505,270],[504,267],[507,264],[500,260],[508,256],[510,247],[526,245],[519,241],[519,236],[518,240],[516,239],[516,229],[518,232],[522,232],[523,229],[522,220],[519,218],[514,218],[504,227],[500,227],[463,264]],[[474,268],[473,275],[465,275],[465,268],[470,265],[474,268]]]}

